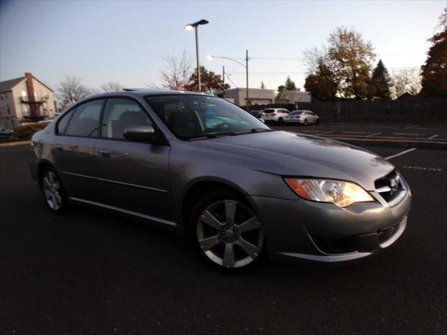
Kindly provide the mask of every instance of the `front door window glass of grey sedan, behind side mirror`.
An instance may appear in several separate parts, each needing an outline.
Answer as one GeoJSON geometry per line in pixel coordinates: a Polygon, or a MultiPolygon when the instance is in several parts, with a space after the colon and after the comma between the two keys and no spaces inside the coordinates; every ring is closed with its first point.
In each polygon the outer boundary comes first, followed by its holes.
{"type": "Polygon", "coordinates": [[[125,128],[147,125],[150,126],[151,121],[138,103],[129,99],[108,99],[101,126],[101,136],[124,140],[125,128]]]}

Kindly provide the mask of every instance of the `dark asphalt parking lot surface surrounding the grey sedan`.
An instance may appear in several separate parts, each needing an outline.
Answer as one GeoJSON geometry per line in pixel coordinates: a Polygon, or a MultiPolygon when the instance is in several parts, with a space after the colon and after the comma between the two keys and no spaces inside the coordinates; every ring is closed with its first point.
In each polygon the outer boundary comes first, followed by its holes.
{"type": "Polygon", "coordinates": [[[223,276],[175,234],[89,209],[51,214],[28,149],[0,147],[0,334],[447,334],[446,150],[367,147],[413,192],[384,253],[223,276]]]}

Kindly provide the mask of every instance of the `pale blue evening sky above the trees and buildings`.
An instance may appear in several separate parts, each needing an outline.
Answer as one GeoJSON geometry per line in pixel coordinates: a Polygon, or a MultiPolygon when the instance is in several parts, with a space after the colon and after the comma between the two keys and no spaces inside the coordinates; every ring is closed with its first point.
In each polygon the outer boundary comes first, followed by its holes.
{"type": "Polygon", "coordinates": [[[244,59],[249,87],[276,89],[288,75],[304,86],[303,52],[327,44],[340,26],[370,40],[390,73],[424,64],[447,0],[438,1],[24,1],[0,0],[0,81],[31,72],[50,87],[67,75],[95,88],[159,84],[163,56],[189,52],[199,29],[200,65],[225,66],[231,87],[245,87],[245,68],[208,55],[244,59]]]}

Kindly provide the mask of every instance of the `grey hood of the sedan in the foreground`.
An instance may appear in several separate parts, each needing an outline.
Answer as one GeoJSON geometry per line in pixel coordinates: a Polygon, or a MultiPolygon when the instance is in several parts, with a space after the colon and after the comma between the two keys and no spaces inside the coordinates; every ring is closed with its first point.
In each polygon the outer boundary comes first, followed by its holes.
{"type": "Polygon", "coordinates": [[[312,135],[272,131],[193,142],[225,151],[252,170],[282,176],[318,177],[354,181],[374,190],[374,181],[394,169],[380,156],[350,144],[312,135]]]}

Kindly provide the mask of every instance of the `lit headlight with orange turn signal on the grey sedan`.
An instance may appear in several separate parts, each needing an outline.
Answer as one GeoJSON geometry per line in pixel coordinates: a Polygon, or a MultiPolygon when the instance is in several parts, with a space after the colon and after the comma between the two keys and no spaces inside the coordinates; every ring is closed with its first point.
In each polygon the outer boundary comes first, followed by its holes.
{"type": "Polygon", "coordinates": [[[295,178],[285,180],[295,193],[307,200],[333,202],[339,207],[347,207],[354,202],[374,201],[367,191],[349,181],[295,178]]]}

